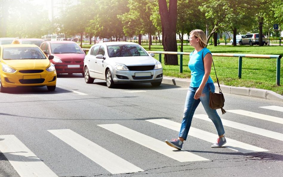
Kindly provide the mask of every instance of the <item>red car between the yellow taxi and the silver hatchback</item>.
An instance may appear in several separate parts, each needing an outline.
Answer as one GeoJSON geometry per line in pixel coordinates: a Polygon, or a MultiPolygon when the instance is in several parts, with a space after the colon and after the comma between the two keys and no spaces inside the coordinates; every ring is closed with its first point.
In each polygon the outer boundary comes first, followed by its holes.
{"type": "Polygon", "coordinates": [[[44,41],[41,50],[47,55],[53,55],[50,62],[55,65],[57,74],[82,73],[84,76],[85,53],[73,41],[44,41]]]}

